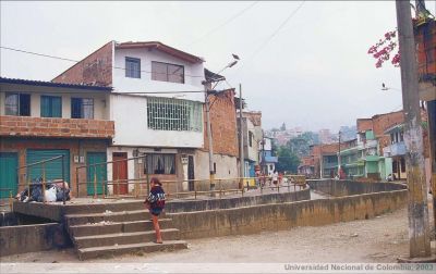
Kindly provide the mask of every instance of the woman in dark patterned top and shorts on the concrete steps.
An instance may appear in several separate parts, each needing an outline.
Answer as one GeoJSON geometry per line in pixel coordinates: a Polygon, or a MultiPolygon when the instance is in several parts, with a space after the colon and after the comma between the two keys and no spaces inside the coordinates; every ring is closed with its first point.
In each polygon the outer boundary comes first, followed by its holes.
{"type": "Polygon", "coordinates": [[[149,210],[153,220],[153,226],[156,232],[156,244],[162,244],[162,236],[160,235],[159,227],[159,214],[162,212],[165,207],[165,191],[162,188],[162,184],[158,178],[153,177],[150,179],[152,189],[148,197],[145,199],[144,203],[146,208],[149,210]]]}

